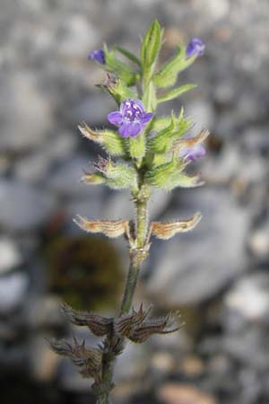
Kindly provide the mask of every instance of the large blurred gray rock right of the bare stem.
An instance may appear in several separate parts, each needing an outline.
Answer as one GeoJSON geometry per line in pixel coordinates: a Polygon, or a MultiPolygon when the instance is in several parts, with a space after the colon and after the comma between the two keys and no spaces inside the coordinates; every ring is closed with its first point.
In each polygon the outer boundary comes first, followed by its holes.
{"type": "Polygon", "coordinates": [[[152,270],[146,291],[163,304],[199,303],[212,297],[246,263],[247,210],[225,189],[190,189],[178,193],[177,214],[185,219],[200,210],[202,221],[190,233],[152,243],[152,270]],[[190,192],[192,194],[190,194],[190,192]]]}

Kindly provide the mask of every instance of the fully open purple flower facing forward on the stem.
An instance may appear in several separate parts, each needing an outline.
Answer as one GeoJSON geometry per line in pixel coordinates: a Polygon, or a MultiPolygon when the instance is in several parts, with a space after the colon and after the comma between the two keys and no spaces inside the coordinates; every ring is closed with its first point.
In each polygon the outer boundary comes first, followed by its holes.
{"type": "Polygon", "coordinates": [[[142,101],[126,98],[121,102],[119,111],[113,111],[108,114],[108,121],[112,125],[119,127],[118,133],[120,136],[135,137],[143,131],[152,116],[152,112],[144,110],[142,101]]]}

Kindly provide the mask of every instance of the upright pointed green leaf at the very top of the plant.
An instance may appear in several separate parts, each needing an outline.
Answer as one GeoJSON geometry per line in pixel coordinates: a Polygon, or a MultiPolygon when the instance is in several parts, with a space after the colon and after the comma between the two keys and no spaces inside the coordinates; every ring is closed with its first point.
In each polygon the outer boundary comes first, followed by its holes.
{"type": "Polygon", "coordinates": [[[162,30],[158,20],[154,20],[145,33],[141,45],[141,64],[144,83],[148,83],[161,49],[162,30]]]}

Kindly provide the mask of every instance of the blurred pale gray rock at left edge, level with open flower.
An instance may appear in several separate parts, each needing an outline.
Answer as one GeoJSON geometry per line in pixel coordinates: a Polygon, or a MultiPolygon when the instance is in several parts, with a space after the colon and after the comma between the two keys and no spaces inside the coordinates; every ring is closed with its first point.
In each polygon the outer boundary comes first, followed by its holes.
{"type": "Polygon", "coordinates": [[[0,75],[0,148],[16,152],[42,145],[53,124],[52,107],[29,72],[0,75]],[[27,102],[26,102],[27,100],[27,102]]]}

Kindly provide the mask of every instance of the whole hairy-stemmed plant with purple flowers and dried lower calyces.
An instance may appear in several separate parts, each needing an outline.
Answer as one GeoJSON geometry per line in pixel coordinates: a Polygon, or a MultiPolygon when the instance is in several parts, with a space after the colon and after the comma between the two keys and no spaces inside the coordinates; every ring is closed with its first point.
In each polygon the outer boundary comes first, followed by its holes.
{"type": "Polygon", "coordinates": [[[187,232],[201,219],[196,213],[188,220],[169,223],[150,222],[148,204],[152,189],[171,190],[191,188],[203,184],[199,176],[189,176],[187,164],[205,154],[203,142],[208,132],[192,132],[192,119],[183,109],[171,112],[170,117],[158,117],[156,108],[195,87],[194,84],[175,86],[178,74],[191,66],[204,52],[199,39],[187,48],[179,45],[174,56],[163,66],[158,65],[163,31],[158,21],[146,32],[140,58],[125,48],[94,50],[89,58],[108,72],[106,83],[100,85],[117,102],[117,110],[108,114],[112,127],[94,130],[83,124],[82,135],[102,146],[107,158],[94,163],[94,171],[86,172],[86,184],[104,184],[111,189],[129,189],[134,201],[134,222],[119,220],[88,220],[77,216],[74,220],[82,230],[103,233],[110,238],[126,236],[129,245],[130,268],[117,318],[102,317],[92,312],[78,312],[63,306],[67,319],[78,326],[87,326],[103,340],[98,347],[85,347],[84,341],[51,341],[60,355],[69,356],[84,377],[94,379],[92,391],[99,404],[109,402],[113,388],[113,364],[125,347],[126,339],[143,343],[152,334],[178,330],[178,315],[170,312],[163,318],[152,318],[150,309],[132,308],[135,286],[144,259],[149,255],[152,236],[168,240],[177,233],[187,232]],[[130,64],[117,55],[126,57],[130,64]],[[130,66],[131,65],[131,66],[130,66]]]}

